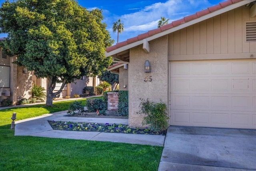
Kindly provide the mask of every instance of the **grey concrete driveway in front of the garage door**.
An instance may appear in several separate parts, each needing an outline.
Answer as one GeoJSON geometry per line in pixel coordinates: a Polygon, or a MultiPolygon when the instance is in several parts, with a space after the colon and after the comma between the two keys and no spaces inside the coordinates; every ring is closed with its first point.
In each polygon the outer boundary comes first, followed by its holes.
{"type": "Polygon", "coordinates": [[[158,171],[256,170],[256,130],[171,126],[158,171]]]}

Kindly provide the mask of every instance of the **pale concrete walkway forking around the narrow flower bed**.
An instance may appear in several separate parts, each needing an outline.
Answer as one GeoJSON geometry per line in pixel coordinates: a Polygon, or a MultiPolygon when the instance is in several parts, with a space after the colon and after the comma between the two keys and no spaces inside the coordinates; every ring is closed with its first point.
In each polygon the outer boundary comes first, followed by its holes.
{"type": "Polygon", "coordinates": [[[165,136],[163,135],[141,135],[127,133],[105,133],[85,131],[60,131],[53,130],[48,120],[72,121],[89,123],[116,123],[128,125],[128,119],[115,118],[91,118],[91,117],[66,117],[67,111],[45,114],[38,117],[24,119],[15,122],[14,135],[29,135],[36,137],[84,139],[92,141],[110,141],[118,143],[132,143],[143,145],[163,146],[165,136]]]}

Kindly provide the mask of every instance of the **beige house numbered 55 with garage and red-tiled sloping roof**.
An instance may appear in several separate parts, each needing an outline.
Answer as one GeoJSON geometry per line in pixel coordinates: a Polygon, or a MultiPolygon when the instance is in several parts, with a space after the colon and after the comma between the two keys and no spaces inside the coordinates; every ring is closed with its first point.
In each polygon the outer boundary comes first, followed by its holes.
{"type": "Polygon", "coordinates": [[[142,126],[143,98],[168,104],[170,125],[256,129],[255,0],[226,0],[105,55],[122,60],[108,70],[128,84],[130,127],[142,126]]]}

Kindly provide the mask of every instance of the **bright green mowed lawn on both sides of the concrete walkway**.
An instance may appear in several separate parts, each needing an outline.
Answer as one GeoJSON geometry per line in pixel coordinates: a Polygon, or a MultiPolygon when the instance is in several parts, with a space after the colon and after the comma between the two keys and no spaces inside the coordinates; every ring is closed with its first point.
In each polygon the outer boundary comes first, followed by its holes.
{"type": "MultiPolygon", "coordinates": [[[[85,105],[85,100],[82,99],[85,105]]],[[[72,101],[55,107],[34,105],[0,110],[1,171],[157,171],[163,147],[100,141],[14,136],[12,112],[17,120],[67,110],[72,101]]]]}

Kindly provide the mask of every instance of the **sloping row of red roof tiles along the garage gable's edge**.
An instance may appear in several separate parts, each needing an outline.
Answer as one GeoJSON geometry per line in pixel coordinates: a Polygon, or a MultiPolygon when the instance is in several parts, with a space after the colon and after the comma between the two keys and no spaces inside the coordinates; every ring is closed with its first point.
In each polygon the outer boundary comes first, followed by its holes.
{"type": "Polygon", "coordinates": [[[186,16],[180,20],[176,20],[176,21],[173,21],[172,23],[170,24],[166,24],[164,26],[161,26],[160,28],[156,28],[154,30],[150,30],[146,33],[143,33],[143,34],[140,34],[134,38],[130,38],[130,39],[127,39],[126,41],[124,42],[120,42],[114,46],[110,46],[108,48],[106,48],[106,52],[111,52],[113,50],[116,50],[117,48],[120,48],[122,46],[125,46],[125,45],[128,45],[128,44],[132,44],[134,42],[137,42],[139,40],[143,40],[145,38],[148,38],[150,36],[153,36],[154,34],[158,34],[160,32],[163,32],[164,30],[168,30],[170,28],[174,28],[176,26],[179,26],[180,24],[184,24],[186,22],[189,22],[191,20],[195,20],[197,18],[200,18],[204,15],[207,15],[207,14],[210,14],[211,12],[214,12],[214,11],[217,11],[217,10],[220,10],[222,8],[225,8],[229,5],[232,5],[232,4],[235,4],[237,2],[240,2],[242,0],[227,0],[227,1],[224,1],[224,2],[220,2],[218,5],[214,5],[214,6],[211,6],[209,8],[207,8],[206,10],[202,10],[202,11],[198,11],[196,12],[196,14],[192,14],[190,16],[186,16]]]}

